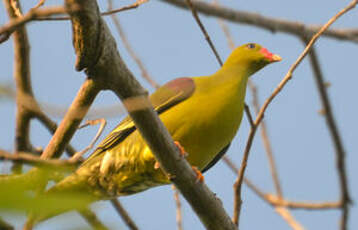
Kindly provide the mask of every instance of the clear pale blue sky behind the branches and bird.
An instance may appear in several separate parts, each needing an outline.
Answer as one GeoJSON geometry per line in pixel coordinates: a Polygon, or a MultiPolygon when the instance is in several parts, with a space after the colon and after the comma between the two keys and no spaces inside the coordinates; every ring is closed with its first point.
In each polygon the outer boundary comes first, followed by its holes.
{"type": "MultiPolygon", "coordinates": [[[[25,9],[37,1],[27,0],[25,9]]],[[[105,1],[103,1],[104,3],[105,1]]],[[[124,6],[132,1],[115,1],[116,6],[124,6]]],[[[233,9],[257,12],[262,15],[300,21],[307,24],[323,24],[349,1],[221,1],[233,9]],[[323,7],[324,6],[324,7],[323,7]]],[[[47,5],[61,4],[62,1],[48,1],[47,5]]],[[[102,3],[102,1],[101,1],[102,3]]],[[[106,4],[101,5],[106,9],[106,4]]],[[[136,10],[118,14],[122,26],[142,59],[151,76],[160,84],[182,76],[201,76],[215,72],[219,65],[205,42],[203,35],[188,11],[181,10],[151,0],[136,10]]],[[[201,16],[220,56],[225,59],[230,49],[226,38],[212,17],[201,16]]],[[[357,10],[349,12],[337,21],[335,28],[357,27],[357,10]]],[[[6,13],[0,5],[0,24],[7,21],[6,13]]],[[[153,89],[140,77],[140,71],[121,44],[110,18],[107,23],[115,36],[118,49],[128,67],[148,90],[153,89]]],[[[290,65],[303,50],[300,39],[284,34],[271,33],[252,26],[228,23],[237,45],[257,42],[270,51],[279,54],[283,61],[268,66],[255,74],[252,79],[257,84],[261,102],[267,98],[286,74],[290,65]]],[[[75,55],[72,47],[71,26],[69,22],[35,22],[28,26],[31,42],[31,74],[36,98],[44,103],[67,107],[85,79],[84,73],[74,70],[75,55]]],[[[356,117],[358,109],[356,98],[357,44],[321,38],[316,44],[318,58],[328,88],[334,115],[347,153],[349,188],[353,200],[358,194],[358,175],[356,117]]],[[[0,45],[0,84],[13,85],[12,41],[0,45]]],[[[250,93],[246,97],[251,102],[250,93]]],[[[112,93],[103,92],[93,107],[117,105],[118,99],[112,93]]],[[[293,79],[275,98],[267,110],[269,136],[277,161],[279,177],[285,198],[295,201],[333,201],[339,198],[335,153],[325,119],[318,111],[321,109],[308,59],[305,59],[293,74],[293,79]]],[[[15,106],[12,101],[0,99],[0,146],[13,150],[15,106]]],[[[108,133],[123,118],[123,114],[110,118],[105,133],[108,133]]],[[[58,121],[60,118],[56,118],[58,121]]],[[[87,128],[76,133],[71,143],[77,148],[85,147],[96,128],[87,128]]],[[[228,156],[240,163],[245,147],[249,126],[246,117],[228,152],[228,156]]],[[[251,149],[247,176],[265,192],[274,192],[260,135],[257,133],[251,149]]],[[[31,141],[35,146],[45,147],[51,136],[38,122],[31,126],[31,141]]],[[[5,173],[9,164],[0,164],[5,173]]],[[[232,214],[232,184],[235,175],[224,165],[218,163],[205,174],[205,182],[223,201],[227,212],[232,214]]],[[[136,221],[140,229],[175,229],[175,204],[170,186],[154,188],[149,191],[120,199],[136,221]]],[[[262,202],[244,186],[241,229],[288,229],[286,222],[274,209],[262,202]]],[[[183,201],[184,229],[204,229],[188,204],[183,201]]],[[[100,218],[113,229],[125,229],[123,222],[108,202],[93,205],[100,218]]],[[[293,211],[294,217],[306,229],[337,229],[338,211],[293,211]]],[[[350,229],[357,228],[356,206],[352,206],[350,229]]],[[[10,222],[16,221],[20,227],[24,217],[4,214],[10,222]],[[21,220],[21,221],[20,221],[21,220]]],[[[74,229],[86,227],[77,214],[68,213],[49,220],[38,229],[74,229]]]]}

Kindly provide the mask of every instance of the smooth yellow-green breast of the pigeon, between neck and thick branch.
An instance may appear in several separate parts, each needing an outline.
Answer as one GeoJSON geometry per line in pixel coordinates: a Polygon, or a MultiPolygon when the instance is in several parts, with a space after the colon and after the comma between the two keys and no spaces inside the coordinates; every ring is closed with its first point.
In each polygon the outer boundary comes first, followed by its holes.
{"type": "Polygon", "coordinates": [[[246,82],[220,85],[205,77],[194,80],[197,88],[192,97],[160,118],[173,139],[188,152],[189,163],[203,169],[231,142],[239,128],[246,82]]]}

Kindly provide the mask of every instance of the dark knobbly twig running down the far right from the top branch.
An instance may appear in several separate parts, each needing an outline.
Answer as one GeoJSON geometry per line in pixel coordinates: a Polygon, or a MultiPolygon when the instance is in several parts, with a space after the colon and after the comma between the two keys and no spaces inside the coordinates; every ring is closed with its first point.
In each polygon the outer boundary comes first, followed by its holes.
{"type": "MultiPolygon", "coordinates": [[[[306,44],[309,40],[306,38],[302,38],[303,42],[306,44]]],[[[339,177],[340,183],[340,199],[342,202],[342,217],[340,221],[340,229],[347,229],[347,222],[349,217],[349,204],[351,202],[351,198],[349,195],[348,189],[348,179],[346,173],[346,164],[345,164],[345,151],[342,143],[342,138],[339,134],[338,127],[336,121],[333,116],[331,102],[328,98],[328,93],[324,84],[322,70],[320,68],[320,64],[318,61],[318,57],[316,54],[316,50],[312,47],[310,53],[310,63],[312,67],[312,71],[314,73],[317,90],[319,92],[322,105],[324,108],[324,116],[326,118],[327,126],[331,134],[331,138],[334,144],[335,152],[336,152],[336,167],[339,177]]]]}

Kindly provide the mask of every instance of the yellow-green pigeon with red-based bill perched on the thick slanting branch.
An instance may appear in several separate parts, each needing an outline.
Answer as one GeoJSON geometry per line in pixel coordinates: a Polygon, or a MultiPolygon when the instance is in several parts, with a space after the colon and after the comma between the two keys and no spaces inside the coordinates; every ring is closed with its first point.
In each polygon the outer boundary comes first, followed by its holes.
{"type": "MultiPolygon", "coordinates": [[[[214,74],[174,79],[149,96],[153,108],[198,178],[227,152],[244,111],[247,82],[277,54],[256,43],[237,47],[214,74]]],[[[112,199],[170,184],[150,148],[128,116],[97,146],[79,168],[47,194],[112,199]]],[[[202,180],[202,179],[201,179],[202,180]]],[[[46,194],[45,194],[46,195],[46,194]]],[[[64,211],[38,215],[44,220],[64,211]]],[[[33,216],[36,216],[35,214],[33,216]]],[[[36,219],[36,218],[33,218],[36,219]]]]}

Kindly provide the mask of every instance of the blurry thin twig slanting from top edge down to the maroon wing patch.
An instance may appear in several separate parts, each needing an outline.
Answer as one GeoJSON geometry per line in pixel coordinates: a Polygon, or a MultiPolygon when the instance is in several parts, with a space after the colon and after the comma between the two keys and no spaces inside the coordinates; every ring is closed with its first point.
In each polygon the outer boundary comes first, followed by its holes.
{"type": "MultiPolygon", "coordinates": [[[[137,1],[138,4],[147,2],[147,1],[137,1]]],[[[108,11],[111,11],[113,8],[113,3],[112,0],[108,0],[108,11]]],[[[129,55],[133,58],[133,60],[135,61],[135,63],[137,64],[138,68],[141,71],[141,75],[142,77],[147,80],[149,82],[149,84],[157,89],[159,88],[159,84],[153,80],[153,78],[149,75],[148,71],[146,70],[146,68],[144,67],[143,62],[140,60],[140,58],[138,57],[138,55],[134,52],[132,46],[129,43],[129,40],[127,39],[127,36],[121,26],[121,23],[119,22],[119,18],[116,14],[111,14],[111,18],[113,20],[114,25],[116,26],[117,32],[119,34],[119,36],[122,39],[122,42],[124,44],[124,47],[126,48],[126,50],[128,51],[129,55]]]]}

